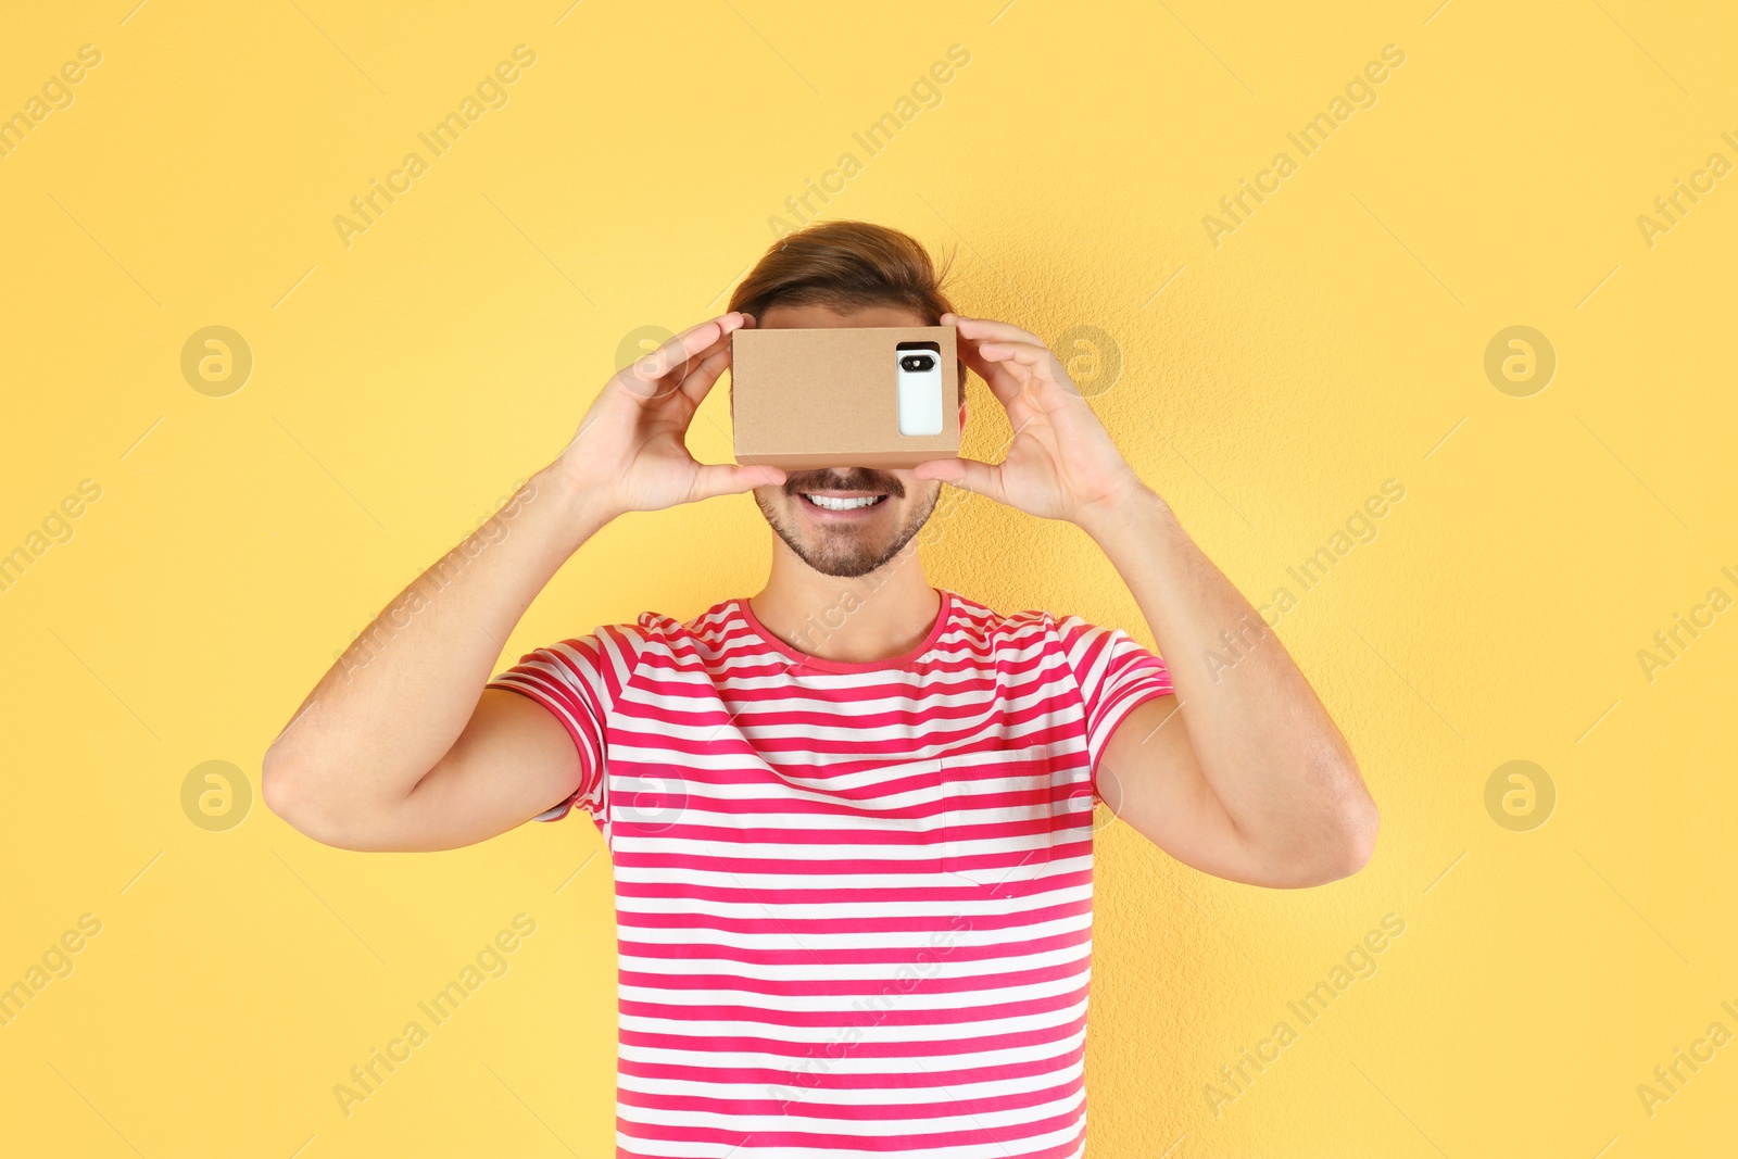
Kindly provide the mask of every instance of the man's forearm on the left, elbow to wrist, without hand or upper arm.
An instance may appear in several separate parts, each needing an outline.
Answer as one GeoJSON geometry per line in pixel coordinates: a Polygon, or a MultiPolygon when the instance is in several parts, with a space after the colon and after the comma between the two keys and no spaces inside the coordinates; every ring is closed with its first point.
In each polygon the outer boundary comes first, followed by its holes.
{"type": "Polygon", "coordinates": [[[525,608],[608,520],[598,488],[560,462],[539,471],[351,643],[266,766],[358,805],[401,799],[464,730],[525,608]]]}

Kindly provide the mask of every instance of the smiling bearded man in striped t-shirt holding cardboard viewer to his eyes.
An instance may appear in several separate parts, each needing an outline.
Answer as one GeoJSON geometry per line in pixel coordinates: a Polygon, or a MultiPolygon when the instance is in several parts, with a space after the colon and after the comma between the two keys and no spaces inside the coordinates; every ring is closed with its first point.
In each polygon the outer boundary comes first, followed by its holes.
{"type": "Polygon", "coordinates": [[[574,806],[598,825],[620,1156],[1079,1156],[1093,805],[1262,886],[1356,872],[1375,805],[1279,639],[1057,358],[951,313],[914,240],[813,226],[730,306],[610,379],[572,445],[382,612],[266,754],[264,798],[349,850],[445,850],[574,806]],[[1008,412],[1005,460],[697,464],[683,436],[747,325],[956,327],[1008,412]],[[930,587],[916,533],[942,481],[1081,527],[1170,666],[1118,629],[930,587]],[[751,488],[775,532],[760,594],[490,679],[605,523],[751,488]]]}

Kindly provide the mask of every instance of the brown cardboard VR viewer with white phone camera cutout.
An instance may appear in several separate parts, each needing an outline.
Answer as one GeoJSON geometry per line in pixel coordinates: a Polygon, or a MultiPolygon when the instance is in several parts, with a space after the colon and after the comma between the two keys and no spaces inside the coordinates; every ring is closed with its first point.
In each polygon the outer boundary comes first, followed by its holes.
{"type": "Polygon", "coordinates": [[[952,327],[820,327],[730,335],[740,464],[914,467],[959,454],[952,327]]]}

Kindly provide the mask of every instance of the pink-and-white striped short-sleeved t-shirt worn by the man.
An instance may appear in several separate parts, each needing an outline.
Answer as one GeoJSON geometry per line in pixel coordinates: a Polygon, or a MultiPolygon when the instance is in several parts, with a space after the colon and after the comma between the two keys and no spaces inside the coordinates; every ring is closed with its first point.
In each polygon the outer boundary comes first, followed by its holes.
{"type": "Polygon", "coordinates": [[[942,591],[921,645],[810,657],[746,599],[502,672],[579,749],[615,867],[617,1154],[1071,1159],[1093,766],[1171,692],[1119,629],[942,591]]]}

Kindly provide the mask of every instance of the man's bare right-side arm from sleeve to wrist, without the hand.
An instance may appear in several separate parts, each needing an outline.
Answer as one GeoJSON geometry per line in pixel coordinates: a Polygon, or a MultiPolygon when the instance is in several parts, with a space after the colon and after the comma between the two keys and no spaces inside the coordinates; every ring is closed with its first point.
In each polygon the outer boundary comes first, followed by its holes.
{"type": "Polygon", "coordinates": [[[1105,744],[1098,792],[1177,860],[1295,888],[1357,872],[1376,806],[1352,751],[1279,636],[1138,488],[1083,527],[1140,605],[1175,695],[1137,705],[1105,744]],[[1236,664],[1210,664],[1237,641],[1236,664]]]}

